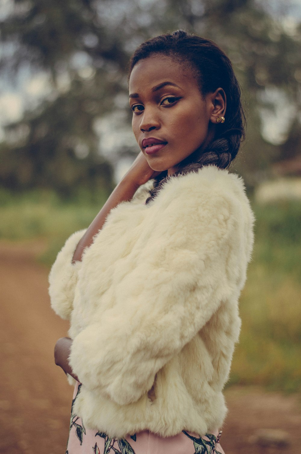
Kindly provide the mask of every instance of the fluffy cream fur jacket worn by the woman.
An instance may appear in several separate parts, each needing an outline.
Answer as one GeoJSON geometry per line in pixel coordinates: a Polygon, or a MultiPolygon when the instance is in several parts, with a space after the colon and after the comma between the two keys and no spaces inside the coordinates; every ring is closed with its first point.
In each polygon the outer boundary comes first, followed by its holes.
{"type": "Polygon", "coordinates": [[[70,237],[50,273],[52,306],[71,319],[74,410],[115,438],[205,434],[226,414],[253,213],[242,180],[214,166],[147,196],[113,209],[76,265],[82,232],[70,237]]]}

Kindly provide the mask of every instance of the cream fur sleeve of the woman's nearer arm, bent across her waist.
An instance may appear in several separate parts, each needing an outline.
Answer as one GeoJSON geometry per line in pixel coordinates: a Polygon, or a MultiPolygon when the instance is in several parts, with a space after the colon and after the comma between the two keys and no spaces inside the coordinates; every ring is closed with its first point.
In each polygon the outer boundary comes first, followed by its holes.
{"type": "Polygon", "coordinates": [[[220,305],[237,301],[252,224],[242,181],[214,167],[171,178],[148,206],[112,210],[57,290],[66,316],[77,288],[69,361],[83,386],[118,405],[147,393],[220,305]]]}

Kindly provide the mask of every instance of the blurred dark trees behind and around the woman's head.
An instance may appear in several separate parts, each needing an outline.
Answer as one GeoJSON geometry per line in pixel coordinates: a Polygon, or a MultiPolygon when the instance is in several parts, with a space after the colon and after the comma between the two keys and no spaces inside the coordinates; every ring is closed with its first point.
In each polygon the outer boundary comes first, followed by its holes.
{"type": "MultiPolygon", "coordinates": [[[[62,193],[79,183],[110,187],[95,120],[116,109],[129,118],[121,96],[129,54],[144,39],[179,28],[213,39],[234,64],[248,115],[247,141],[234,168],[249,186],[255,184],[272,160],[285,155],[286,143],[276,147],[262,137],[260,109],[275,108],[277,90],[292,106],[287,146],[301,136],[301,29],[286,31],[268,3],[256,0],[11,0],[10,14],[0,22],[0,71],[18,74],[24,65],[44,71],[53,90],[21,121],[7,125],[0,183],[52,186],[62,193]],[[271,89],[275,99],[267,101],[271,89]]],[[[131,153],[126,144],[120,148],[131,153]]]]}

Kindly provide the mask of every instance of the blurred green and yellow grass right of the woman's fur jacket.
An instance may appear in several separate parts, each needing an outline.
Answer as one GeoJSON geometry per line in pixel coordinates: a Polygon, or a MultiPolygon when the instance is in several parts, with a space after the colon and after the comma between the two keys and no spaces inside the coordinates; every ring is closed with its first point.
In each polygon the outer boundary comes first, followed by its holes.
{"type": "Polygon", "coordinates": [[[230,384],[301,390],[301,206],[255,207],[253,261],[240,299],[242,330],[230,384]]]}

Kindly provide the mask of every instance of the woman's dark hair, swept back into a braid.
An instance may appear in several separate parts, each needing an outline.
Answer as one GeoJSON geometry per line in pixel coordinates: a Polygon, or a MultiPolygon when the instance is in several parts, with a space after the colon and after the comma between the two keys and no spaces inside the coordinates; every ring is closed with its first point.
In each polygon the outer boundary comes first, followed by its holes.
{"type": "MultiPolygon", "coordinates": [[[[214,139],[205,150],[196,150],[182,163],[176,175],[196,172],[199,168],[213,164],[228,168],[239,151],[244,138],[244,111],[240,103],[240,88],[232,64],[224,52],[210,39],[177,30],[168,35],[149,39],[136,49],[129,62],[129,75],[135,64],[153,54],[170,56],[188,66],[196,75],[201,94],[214,93],[219,87],[227,98],[225,123],[216,128],[214,139]]],[[[156,196],[166,182],[166,173],[156,182],[147,203],[156,196]]]]}

